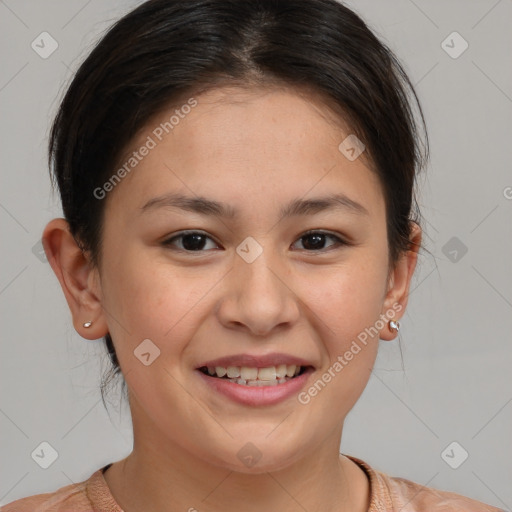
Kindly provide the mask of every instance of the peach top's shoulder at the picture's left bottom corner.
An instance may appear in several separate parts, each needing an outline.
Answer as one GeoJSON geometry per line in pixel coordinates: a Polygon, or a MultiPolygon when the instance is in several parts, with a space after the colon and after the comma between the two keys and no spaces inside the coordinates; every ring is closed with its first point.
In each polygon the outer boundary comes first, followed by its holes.
{"type": "Polygon", "coordinates": [[[89,480],[65,485],[54,492],[17,499],[1,506],[0,512],[92,512],[86,492],[89,480]]]}

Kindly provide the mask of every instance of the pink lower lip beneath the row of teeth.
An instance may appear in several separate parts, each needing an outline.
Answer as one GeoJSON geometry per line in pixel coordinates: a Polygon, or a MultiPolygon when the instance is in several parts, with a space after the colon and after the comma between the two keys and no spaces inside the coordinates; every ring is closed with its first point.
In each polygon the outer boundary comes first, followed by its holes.
{"type": "Polygon", "coordinates": [[[313,368],[307,368],[301,375],[275,386],[245,386],[230,382],[228,379],[211,377],[200,370],[196,370],[207,386],[235,402],[245,405],[272,405],[299,393],[304,387],[313,368]]]}

